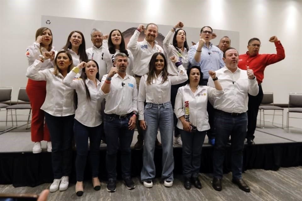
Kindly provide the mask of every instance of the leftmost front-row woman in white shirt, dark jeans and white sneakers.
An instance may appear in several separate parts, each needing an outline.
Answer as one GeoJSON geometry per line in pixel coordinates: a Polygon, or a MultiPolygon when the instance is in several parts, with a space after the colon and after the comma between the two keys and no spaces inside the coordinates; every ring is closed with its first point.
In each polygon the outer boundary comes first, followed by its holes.
{"type": "Polygon", "coordinates": [[[41,107],[52,141],[53,183],[50,192],[64,191],[69,185],[72,167],[71,139],[75,117],[74,89],[63,84],[73,67],[71,55],[64,50],[55,57],[54,68],[40,70],[43,60],[36,60],[27,68],[26,77],[46,81],[46,98],[41,107]]]}

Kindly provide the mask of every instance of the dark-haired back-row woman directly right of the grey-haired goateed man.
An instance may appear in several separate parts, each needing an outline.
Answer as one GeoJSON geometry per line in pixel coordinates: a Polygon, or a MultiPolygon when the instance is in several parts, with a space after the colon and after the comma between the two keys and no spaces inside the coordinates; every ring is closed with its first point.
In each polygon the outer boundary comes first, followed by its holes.
{"type": "MultiPolygon", "coordinates": [[[[108,35],[106,35],[108,36],[108,35]]],[[[111,67],[113,67],[114,57],[117,53],[125,53],[128,57],[128,67],[126,72],[133,76],[133,56],[130,50],[126,49],[125,40],[123,34],[118,29],[114,29],[110,32],[108,40],[103,40],[103,57],[102,59],[106,62],[107,73],[109,73],[111,67]]]]}

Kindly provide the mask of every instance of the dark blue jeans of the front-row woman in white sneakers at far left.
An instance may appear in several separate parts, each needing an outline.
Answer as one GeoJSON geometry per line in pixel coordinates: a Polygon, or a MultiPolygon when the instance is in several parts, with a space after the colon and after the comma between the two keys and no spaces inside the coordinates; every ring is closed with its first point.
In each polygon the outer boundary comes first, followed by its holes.
{"type": "Polygon", "coordinates": [[[71,141],[73,136],[73,120],[75,115],[66,117],[55,117],[45,112],[51,144],[53,176],[60,179],[63,176],[70,176],[72,167],[71,141]]]}

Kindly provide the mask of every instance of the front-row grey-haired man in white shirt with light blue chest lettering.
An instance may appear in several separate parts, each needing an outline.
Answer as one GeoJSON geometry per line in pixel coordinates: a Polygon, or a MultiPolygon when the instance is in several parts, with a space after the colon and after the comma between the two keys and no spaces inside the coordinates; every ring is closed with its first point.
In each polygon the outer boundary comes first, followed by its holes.
{"type": "Polygon", "coordinates": [[[126,73],[128,57],[125,53],[115,55],[112,67],[101,81],[99,95],[106,99],[104,131],[107,142],[106,166],[109,182],[108,192],[116,189],[116,153],[120,148],[122,177],[128,189],[134,189],[131,179],[131,149],[137,115],[137,87],[134,77],[126,73]]]}

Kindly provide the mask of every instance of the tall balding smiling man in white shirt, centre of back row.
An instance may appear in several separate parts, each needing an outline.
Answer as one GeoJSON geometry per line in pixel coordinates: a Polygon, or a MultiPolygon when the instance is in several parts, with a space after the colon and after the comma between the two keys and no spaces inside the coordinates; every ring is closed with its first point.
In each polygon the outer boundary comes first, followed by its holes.
{"type": "MultiPolygon", "coordinates": [[[[146,29],[143,24],[140,24],[128,42],[127,47],[133,55],[133,73],[137,84],[137,90],[141,77],[149,72],[148,64],[152,55],[156,52],[164,53],[163,48],[155,41],[157,36],[158,26],[156,24],[149,23],[147,24],[146,29]],[[141,31],[144,31],[146,37],[143,41],[138,42],[137,39],[141,31]]],[[[137,143],[134,145],[134,149],[142,149],[144,137],[140,126],[137,127],[137,132],[137,143]]],[[[161,147],[157,138],[155,146],[161,147]]]]}

